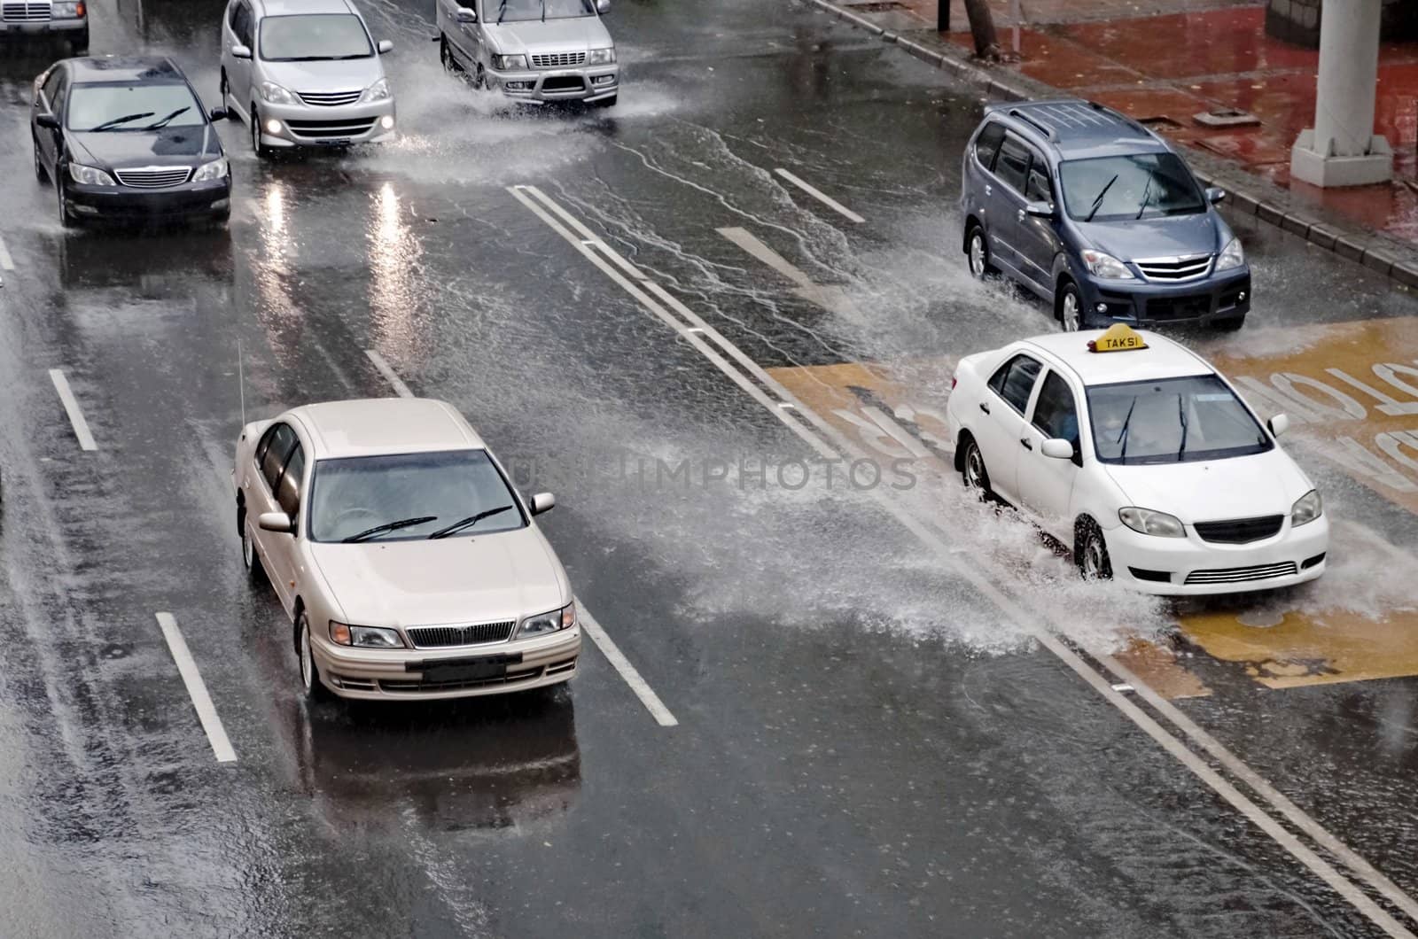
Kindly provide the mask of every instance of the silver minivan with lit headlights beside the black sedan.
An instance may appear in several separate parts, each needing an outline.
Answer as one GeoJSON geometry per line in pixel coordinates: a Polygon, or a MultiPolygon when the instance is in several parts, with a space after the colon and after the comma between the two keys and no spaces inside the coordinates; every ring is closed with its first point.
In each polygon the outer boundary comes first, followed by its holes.
{"type": "Polygon", "coordinates": [[[394,92],[349,0],[230,0],[221,18],[221,101],[251,128],[257,156],[347,146],[394,133],[394,92]]]}

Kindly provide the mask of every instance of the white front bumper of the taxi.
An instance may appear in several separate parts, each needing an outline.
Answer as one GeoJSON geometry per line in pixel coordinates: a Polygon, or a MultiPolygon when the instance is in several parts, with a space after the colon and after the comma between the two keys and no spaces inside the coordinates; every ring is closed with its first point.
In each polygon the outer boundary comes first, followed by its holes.
{"type": "Polygon", "coordinates": [[[1187,538],[1141,535],[1119,525],[1103,533],[1113,579],[1159,596],[1212,596],[1276,590],[1324,573],[1329,518],[1249,545],[1205,542],[1188,525],[1187,538]]]}

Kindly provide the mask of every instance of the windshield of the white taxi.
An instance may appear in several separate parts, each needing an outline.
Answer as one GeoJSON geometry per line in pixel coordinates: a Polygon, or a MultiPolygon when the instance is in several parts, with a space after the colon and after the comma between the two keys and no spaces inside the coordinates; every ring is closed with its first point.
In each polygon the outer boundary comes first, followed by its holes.
{"type": "Polygon", "coordinates": [[[1092,386],[1088,416],[1102,462],[1221,460],[1275,445],[1215,374],[1092,386]]]}

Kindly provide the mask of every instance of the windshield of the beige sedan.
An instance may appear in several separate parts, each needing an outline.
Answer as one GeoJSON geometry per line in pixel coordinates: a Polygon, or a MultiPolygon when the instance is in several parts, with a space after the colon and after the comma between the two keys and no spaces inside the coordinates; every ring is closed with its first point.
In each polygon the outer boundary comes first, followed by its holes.
{"type": "Polygon", "coordinates": [[[311,539],[414,540],[526,525],[516,496],[485,450],[320,460],[311,479],[311,539]],[[503,509],[501,512],[495,509],[503,509]]]}

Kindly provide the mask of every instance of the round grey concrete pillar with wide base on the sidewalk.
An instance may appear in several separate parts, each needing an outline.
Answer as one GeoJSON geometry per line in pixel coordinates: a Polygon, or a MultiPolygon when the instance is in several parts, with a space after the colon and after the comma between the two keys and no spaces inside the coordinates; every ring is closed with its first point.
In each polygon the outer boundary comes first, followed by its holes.
{"type": "Polygon", "coordinates": [[[1326,0],[1314,126],[1290,149],[1290,176],[1316,186],[1367,186],[1394,174],[1388,140],[1374,135],[1383,0],[1326,0]]]}

